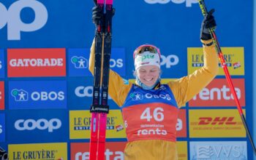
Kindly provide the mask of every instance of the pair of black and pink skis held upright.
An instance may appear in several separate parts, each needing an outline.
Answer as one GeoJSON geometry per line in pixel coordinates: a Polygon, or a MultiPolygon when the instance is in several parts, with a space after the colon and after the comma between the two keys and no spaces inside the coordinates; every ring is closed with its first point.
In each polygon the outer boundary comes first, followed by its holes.
{"type": "Polygon", "coordinates": [[[90,160],[105,159],[105,134],[107,114],[109,112],[108,79],[112,40],[113,0],[97,0],[96,5],[100,7],[100,12],[104,15],[105,20],[100,20],[95,31],[94,89],[93,102],[90,109],[90,160]]]}

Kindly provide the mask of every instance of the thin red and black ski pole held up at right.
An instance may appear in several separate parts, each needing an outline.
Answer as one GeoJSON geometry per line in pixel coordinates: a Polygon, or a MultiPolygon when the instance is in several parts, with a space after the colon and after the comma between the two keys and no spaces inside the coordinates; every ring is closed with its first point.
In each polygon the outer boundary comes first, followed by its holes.
{"type": "MultiPolygon", "coordinates": [[[[203,16],[206,16],[208,12],[207,12],[206,4],[205,4],[204,0],[198,0],[198,2],[199,2],[200,9],[201,9],[201,11],[203,13],[203,16]]],[[[256,155],[255,143],[253,143],[252,136],[251,136],[251,134],[249,132],[249,129],[248,129],[248,126],[247,126],[247,123],[246,123],[246,120],[245,120],[245,116],[244,116],[244,113],[243,113],[243,110],[242,110],[241,105],[239,103],[238,96],[236,94],[236,91],[235,91],[232,79],[230,77],[230,73],[229,73],[229,71],[227,69],[227,65],[225,63],[225,59],[224,59],[223,54],[222,54],[222,50],[219,47],[219,41],[217,40],[217,36],[215,34],[214,28],[210,28],[209,31],[210,31],[210,34],[211,34],[211,38],[213,39],[213,42],[214,42],[214,45],[215,45],[215,49],[216,49],[216,51],[217,51],[217,53],[219,55],[220,63],[222,64],[222,68],[223,68],[223,70],[225,72],[225,77],[227,79],[227,84],[229,85],[230,90],[231,90],[231,92],[233,94],[234,100],[236,102],[236,107],[237,107],[238,112],[239,112],[239,114],[241,116],[241,120],[243,121],[244,128],[246,129],[246,134],[248,135],[249,141],[250,141],[250,143],[252,145],[252,150],[254,151],[254,153],[256,155]]]]}

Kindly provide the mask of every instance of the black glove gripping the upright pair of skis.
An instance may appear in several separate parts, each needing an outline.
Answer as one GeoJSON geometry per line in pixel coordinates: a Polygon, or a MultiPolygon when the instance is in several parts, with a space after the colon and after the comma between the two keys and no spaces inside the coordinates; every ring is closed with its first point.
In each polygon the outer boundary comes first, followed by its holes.
{"type": "MultiPolygon", "coordinates": [[[[115,15],[115,9],[112,9],[112,17],[115,15]]],[[[102,25],[105,25],[105,14],[101,12],[101,9],[99,6],[95,6],[92,8],[92,22],[95,25],[98,25],[100,20],[102,20],[102,25]]]]}

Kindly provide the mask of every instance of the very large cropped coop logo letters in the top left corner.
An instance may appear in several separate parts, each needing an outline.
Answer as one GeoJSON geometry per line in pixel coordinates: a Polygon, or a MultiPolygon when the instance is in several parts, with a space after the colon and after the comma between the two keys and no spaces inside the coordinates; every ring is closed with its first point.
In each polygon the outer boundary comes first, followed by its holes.
{"type": "Polygon", "coordinates": [[[8,9],[0,3],[0,15],[0,29],[7,25],[8,40],[20,40],[22,31],[37,31],[48,21],[48,11],[44,4],[34,0],[15,1],[8,9]],[[23,23],[20,18],[20,12],[27,7],[34,11],[34,20],[31,23],[23,23]]]}

